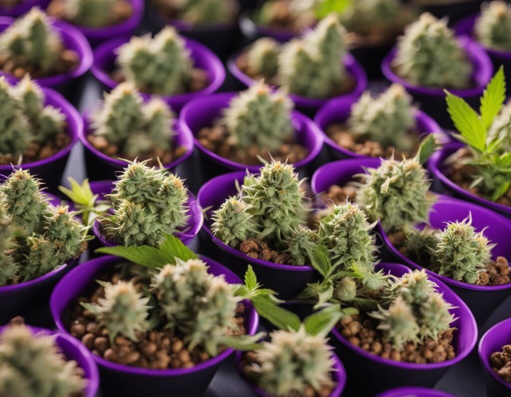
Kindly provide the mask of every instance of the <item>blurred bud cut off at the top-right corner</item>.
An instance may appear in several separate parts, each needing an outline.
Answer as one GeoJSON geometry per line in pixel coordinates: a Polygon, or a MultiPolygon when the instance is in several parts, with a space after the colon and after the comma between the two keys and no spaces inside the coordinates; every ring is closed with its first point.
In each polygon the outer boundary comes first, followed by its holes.
{"type": "Polygon", "coordinates": [[[511,51],[511,8],[501,0],[483,4],[474,33],[487,48],[511,51]]]}

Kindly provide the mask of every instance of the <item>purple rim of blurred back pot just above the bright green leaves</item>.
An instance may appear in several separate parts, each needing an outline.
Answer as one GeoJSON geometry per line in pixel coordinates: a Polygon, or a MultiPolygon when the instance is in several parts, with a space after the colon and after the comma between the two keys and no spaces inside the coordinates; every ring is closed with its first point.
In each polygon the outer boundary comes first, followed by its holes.
{"type": "MultiPolygon", "coordinates": [[[[461,98],[479,97],[486,85],[490,82],[493,75],[493,64],[483,49],[467,36],[458,37],[459,45],[465,50],[467,56],[474,67],[472,79],[476,86],[467,89],[449,89],[451,94],[461,98]]],[[[423,87],[414,85],[407,80],[396,75],[391,68],[391,63],[396,57],[398,48],[394,47],[383,59],[383,75],[393,83],[399,83],[411,94],[429,95],[432,97],[445,98],[444,88],[423,87]]]]}

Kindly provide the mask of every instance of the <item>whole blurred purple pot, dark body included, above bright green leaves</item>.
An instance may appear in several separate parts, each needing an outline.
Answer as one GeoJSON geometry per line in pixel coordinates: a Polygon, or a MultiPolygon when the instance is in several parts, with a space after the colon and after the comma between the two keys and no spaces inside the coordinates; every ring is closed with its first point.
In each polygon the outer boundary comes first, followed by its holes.
{"type": "MultiPolygon", "coordinates": [[[[466,36],[458,38],[461,47],[466,51],[467,56],[474,66],[472,79],[475,86],[467,89],[449,89],[449,91],[458,97],[466,100],[473,108],[479,107],[479,97],[486,85],[490,82],[493,75],[493,65],[490,58],[474,41],[466,36]]],[[[445,92],[443,87],[431,88],[422,87],[409,83],[396,75],[391,64],[397,54],[397,48],[394,47],[390,53],[383,59],[382,72],[383,75],[392,83],[403,85],[413,97],[415,102],[421,105],[421,109],[428,113],[441,127],[453,129],[453,124],[449,113],[447,113],[447,105],[445,102],[445,92]]]]}

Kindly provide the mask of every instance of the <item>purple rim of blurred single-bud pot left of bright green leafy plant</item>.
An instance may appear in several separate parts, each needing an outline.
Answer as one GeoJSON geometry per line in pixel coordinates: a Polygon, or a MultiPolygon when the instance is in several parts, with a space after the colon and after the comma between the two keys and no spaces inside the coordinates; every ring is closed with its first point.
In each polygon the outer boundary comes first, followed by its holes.
{"type": "MultiPolygon", "coordinates": [[[[351,150],[347,150],[335,143],[332,138],[330,138],[325,131],[334,123],[343,123],[345,122],[350,114],[352,106],[354,102],[350,98],[338,98],[332,99],[327,102],[321,109],[318,110],[316,116],[314,117],[314,122],[319,127],[323,134],[324,142],[330,146],[332,149],[342,153],[346,157],[358,158],[358,157],[371,157],[363,154],[358,154],[352,152],[351,150]]],[[[415,125],[417,130],[419,130],[419,134],[428,134],[435,133],[438,135],[442,135],[445,139],[447,136],[440,126],[434,121],[429,115],[424,113],[421,110],[415,111],[415,125]]]]}

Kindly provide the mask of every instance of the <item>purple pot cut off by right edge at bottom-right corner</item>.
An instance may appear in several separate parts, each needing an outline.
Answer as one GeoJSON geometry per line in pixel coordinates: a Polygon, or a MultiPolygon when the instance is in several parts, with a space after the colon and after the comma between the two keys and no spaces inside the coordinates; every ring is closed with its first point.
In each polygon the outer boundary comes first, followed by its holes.
{"type": "Polygon", "coordinates": [[[501,352],[502,346],[511,344],[511,318],[495,324],[482,336],[479,341],[479,360],[484,369],[486,379],[486,395],[510,395],[511,383],[504,382],[492,369],[490,356],[492,353],[501,352]]]}

